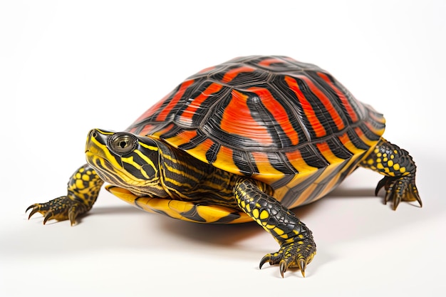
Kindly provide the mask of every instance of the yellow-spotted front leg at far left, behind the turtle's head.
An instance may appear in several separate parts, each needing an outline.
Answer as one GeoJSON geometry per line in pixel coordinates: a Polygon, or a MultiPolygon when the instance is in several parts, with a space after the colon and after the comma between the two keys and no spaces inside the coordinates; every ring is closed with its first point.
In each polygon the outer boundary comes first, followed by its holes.
{"type": "Polygon", "coordinates": [[[43,224],[46,224],[49,219],[57,221],[69,219],[73,226],[76,223],[76,217],[85,214],[93,207],[103,183],[95,170],[85,164],[76,170],[68,181],[66,196],[46,203],[32,204],[26,209],[26,212],[32,209],[28,219],[39,212],[44,217],[43,224]]]}

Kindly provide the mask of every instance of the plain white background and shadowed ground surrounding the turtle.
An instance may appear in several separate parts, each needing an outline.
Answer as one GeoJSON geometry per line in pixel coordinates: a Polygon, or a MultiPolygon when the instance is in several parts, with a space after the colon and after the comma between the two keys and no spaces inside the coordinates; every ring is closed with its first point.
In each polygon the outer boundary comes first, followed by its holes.
{"type": "Polygon", "coordinates": [[[444,294],[445,1],[1,1],[0,34],[1,296],[444,294]],[[256,224],[177,221],[105,191],[76,226],[27,220],[65,194],[90,128],[125,129],[187,76],[252,54],[316,63],[384,113],[422,209],[393,212],[379,174],[357,170],[296,209],[318,254],[284,279],[258,269],[279,246],[256,224]]]}

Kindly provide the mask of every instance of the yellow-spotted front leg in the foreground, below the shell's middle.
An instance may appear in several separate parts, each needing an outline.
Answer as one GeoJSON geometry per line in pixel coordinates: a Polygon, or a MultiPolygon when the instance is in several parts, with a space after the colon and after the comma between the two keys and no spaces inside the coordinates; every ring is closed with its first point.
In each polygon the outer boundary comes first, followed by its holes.
{"type": "Polygon", "coordinates": [[[274,197],[263,192],[257,182],[249,179],[237,184],[234,189],[237,204],[249,217],[268,231],[280,244],[279,251],[266,254],[260,261],[260,268],[266,262],[279,264],[281,276],[289,267],[301,269],[305,277],[306,266],[316,254],[313,235],[289,209],[274,197]]]}

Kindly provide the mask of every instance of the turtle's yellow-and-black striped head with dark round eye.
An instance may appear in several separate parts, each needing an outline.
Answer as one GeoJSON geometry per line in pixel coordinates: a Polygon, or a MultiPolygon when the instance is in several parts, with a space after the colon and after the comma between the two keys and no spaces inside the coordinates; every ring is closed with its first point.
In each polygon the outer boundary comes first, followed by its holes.
{"type": "Polygon", "coordinates": [[[158,140],[129,132],[93,129],[85,157],[105,182],[138,196],[163,196],[158,140]]]}

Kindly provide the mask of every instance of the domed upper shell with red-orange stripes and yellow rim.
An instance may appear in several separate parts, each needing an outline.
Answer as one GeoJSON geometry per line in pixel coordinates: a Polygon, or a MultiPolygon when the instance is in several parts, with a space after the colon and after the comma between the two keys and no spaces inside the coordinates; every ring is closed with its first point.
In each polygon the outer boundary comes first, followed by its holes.
{"type": "Polygon", "coordinates": [[[383,134],[383,115],[321,68],[234,58],[190,76],[128,131],[270,184],[285,207],[322,197],[383,134]]]}

